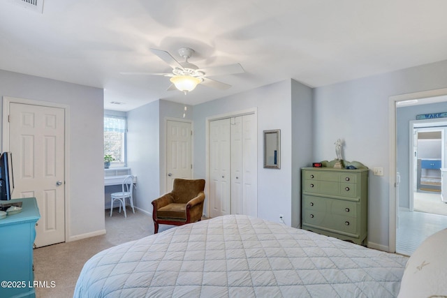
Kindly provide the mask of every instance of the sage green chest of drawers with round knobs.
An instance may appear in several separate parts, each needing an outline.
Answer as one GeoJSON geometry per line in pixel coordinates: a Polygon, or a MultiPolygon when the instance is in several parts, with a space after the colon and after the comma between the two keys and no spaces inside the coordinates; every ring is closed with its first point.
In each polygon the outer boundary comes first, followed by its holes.
{"type": "Polygon", "coordinates": [[[303,167],[302,229],[367,245],[368,170],[303,167]]]}

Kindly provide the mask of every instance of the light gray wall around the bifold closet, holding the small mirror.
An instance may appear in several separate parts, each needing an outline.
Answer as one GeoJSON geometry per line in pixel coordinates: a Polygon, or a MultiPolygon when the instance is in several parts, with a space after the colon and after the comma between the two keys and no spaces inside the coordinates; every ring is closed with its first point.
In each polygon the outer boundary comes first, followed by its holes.
{"type": "MultiPolygon", "coordinates": [[[[207,117],[256,107],[258,117],[258,149],[256,152],[258,156],[258,217],[277,222],[279,214],[284,214],[286,224],[291,225],[293,219],[295,225],[297,219],[292,218],[292,214],[296,216],[297,211],[292,211],[292,191],[294,191],[296,199],[298,188],[297,177],[293,177],[292,172],[298,171],[293,169],[293,166],[298,166],[298,163],[293,163],[292,158],[294,154],[292,152],[292,113],[297,112],[298,117],[305,114],[300,110],[300,100],[304,101],[303,110],[307,109],[310,100],[309,94],[312,94],[312,91],[308,87],[293,82],[293,80],[285,80],[234,96],[195,105],[193,110],[194,177],[206,178],[205,130],[207,117]],[[300,96],[300,94],[304,95],[300,96]],[[271,129],[281,129],[280,170],[263,168],[263,131],[271,129]]],[[[307,143],[310,142],[309,140],[307,143]]],[[[206,195],[208,198],[208,194],[206,195]]],[[[205,201],[205,213],[208,211],[208,206],[209,202],[205,201]]]]}

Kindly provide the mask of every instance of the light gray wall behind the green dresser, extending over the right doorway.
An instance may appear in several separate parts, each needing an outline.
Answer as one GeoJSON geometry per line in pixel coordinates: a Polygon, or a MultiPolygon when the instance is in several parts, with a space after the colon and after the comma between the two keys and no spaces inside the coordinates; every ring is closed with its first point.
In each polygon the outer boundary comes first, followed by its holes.
{"type": "Polygon", "coordinates": [[[447,61],[440,61],[314,89],[314,158],[335,158],[334,142],[342,138],[344,159],[384,167],[382,177],[369,172],[368,241],[373,246],[388,248],[389,97],[446,88],[446,77],[447,61]]]}

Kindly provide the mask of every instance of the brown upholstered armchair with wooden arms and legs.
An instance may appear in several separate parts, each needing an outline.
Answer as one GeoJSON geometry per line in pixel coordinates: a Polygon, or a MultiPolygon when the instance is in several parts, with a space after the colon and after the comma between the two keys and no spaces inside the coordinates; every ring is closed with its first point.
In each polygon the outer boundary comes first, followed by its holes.
{"type": "Polygon", "coordinates": [[[159,224],[184,225],[200,221],[205,201],[205,180],[174,179],[173,191],[153,200],[154,233],[159,224]]]}

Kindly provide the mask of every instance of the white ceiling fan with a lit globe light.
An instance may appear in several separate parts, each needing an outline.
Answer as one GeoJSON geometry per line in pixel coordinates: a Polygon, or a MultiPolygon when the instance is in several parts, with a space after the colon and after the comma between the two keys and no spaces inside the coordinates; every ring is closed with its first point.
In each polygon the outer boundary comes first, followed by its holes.
{"type": "Polygon", "coordinates": [[[235,73],[244,73],[244,68],[240,64],[230,64],[226,66],[214,66],[210,68],[198,68],[195,64],[189,63],[188,59],[194,53],[194,50],[189,47],[181,47],[179,49],[180,57],[184,61],[177,61],[171,54],[163,50],[151,49],[161,60],[165,61],[173,68],[172,73],[123,73],[128,75],[163,75],[170,77],[170,85],[168,91],[178,89],[186,94],[192,91],[198,84],[203,84],[207,87],[213,87],[225,90],[231,87],[229,84],[212,80],[210,77],[216,75],[233,75],[235,73]]]}

